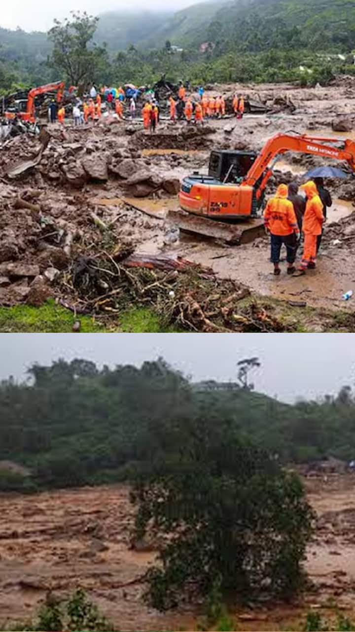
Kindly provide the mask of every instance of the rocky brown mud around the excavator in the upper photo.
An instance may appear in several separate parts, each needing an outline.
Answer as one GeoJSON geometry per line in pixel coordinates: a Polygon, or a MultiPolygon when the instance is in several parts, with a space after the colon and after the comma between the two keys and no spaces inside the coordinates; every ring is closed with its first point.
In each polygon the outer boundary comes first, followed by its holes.
{"type": "MultiPolygon", "coordinates": [[[[167,210],[178,207],[179,181],[193,171],[207,173],[211,149],[259,151],[268,138],[290,130],[355,139],[353,78],[327,88],[222,86],[213,93],[231,93],[234,88],[270,106],[275,97],[287,97],[286,106],[280,106],[280,111],[274,106],[274,113],[266,115],[246,115],[242,121],[228,117],[208,121],[202,129],[163,118],[153,136],[143,132],[141,121],[107,119],[80,129],[73,128],[71,121],[64,129],[50,125],[51,140],[39,164],[15,179],[9,178],[9,169],[35,154],[40,144],[25,137],[5,140],[0,147],[0,305],[21,301],[37,305],[47,296],[78,305],[73,262],[78,256],[107,252],[109,247],[112,253],[112,247],[120,249],[123,244],[130,252],[180,255],[207,265],[220,279],[235,279],[255,296],[352,312],[351,301],[342,301],[342,294],[355,285],[355,185],[351,179],[328,181],[334,205],[318,267],[301,278],[272,275],[266,237],[226,247],[191,234],[176,234],[167,221],[167,210]],[[287,106],[290,100],[292,113],[287,106]],[[349,131],[334,131],[332,126],[344,118],[349,131]]],[[[304,173],[318,164],[324,162],[315,156],[283,155],[275,165],[268,195],[280,181],[296,178],[301,182],[304,173]]]]}

